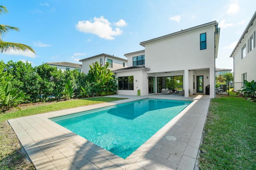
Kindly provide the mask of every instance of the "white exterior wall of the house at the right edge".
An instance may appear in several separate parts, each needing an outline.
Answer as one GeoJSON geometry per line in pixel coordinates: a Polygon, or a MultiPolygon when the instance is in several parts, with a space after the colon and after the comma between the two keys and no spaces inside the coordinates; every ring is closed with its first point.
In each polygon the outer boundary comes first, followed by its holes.
{"type": "MultiPolygon", "coordinates": [[[[255,23],[256,20],[253,21],[255,23]]],[[[234,52],[234,82],[242,82],[242,74],[247,74],[247,81],[251,82],[256,80],[256,48],[249,51],[248,39],[256,31],[256,24],[253,24],[252,27],[248,30],[248,33],[242,39],[240,45],[237,47],[234,52]],[[246,56],[242,59],[242,47],[246,44],[246,56]]],[[[254,41],[256,37],[253,37],[254,41]]]]}

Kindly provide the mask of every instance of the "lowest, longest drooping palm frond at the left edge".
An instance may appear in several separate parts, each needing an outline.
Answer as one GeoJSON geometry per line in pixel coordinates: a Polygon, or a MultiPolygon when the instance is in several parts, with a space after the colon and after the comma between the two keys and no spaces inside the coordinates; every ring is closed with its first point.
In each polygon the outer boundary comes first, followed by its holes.
{"type": "Polygon", "coordinates": [[[20,44],[20,43],[10,43],[10,42],[4,42],[0,41],[0,51],[1,53],[3,52],[8,52],[10,50],[14,51],[31,51],[32,53],[36,54],[34,49],[28,45],[20,44]]]}

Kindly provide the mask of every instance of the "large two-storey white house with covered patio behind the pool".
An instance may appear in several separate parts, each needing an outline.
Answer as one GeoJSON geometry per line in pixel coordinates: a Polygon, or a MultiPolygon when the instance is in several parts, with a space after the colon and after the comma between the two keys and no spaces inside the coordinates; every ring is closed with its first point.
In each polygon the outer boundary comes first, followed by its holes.
{"type": "Polygon", "coordinates": [[[144,50],[124,55],[128,67],[114,70],[118,94],[137,95],[140,90],[144,96],[168,88],[188,97],[205,94],[210,84],[210,98],[215,98],[219,34],[218,23],[212,21],[141,42],[144,50]]]}

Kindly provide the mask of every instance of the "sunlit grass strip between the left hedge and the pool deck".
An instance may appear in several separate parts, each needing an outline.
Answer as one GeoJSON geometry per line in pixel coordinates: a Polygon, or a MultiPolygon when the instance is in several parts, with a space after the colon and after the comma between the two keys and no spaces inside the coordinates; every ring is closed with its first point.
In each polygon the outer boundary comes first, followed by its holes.
{"type": "Polygon", "coordinates": [[[26,161],[20,143],[12,127],[7,123],[8,119],[24,117],[50,111],[70,109],[74,107],[113,102],[124,98],[95,97],[68,100],[62,102],[49,102],[42,104],[30,104],[22,106],[22,110],[12,109],[8,113],[0,113],[0,170],[34,170],[34,165],[26,161]]]}

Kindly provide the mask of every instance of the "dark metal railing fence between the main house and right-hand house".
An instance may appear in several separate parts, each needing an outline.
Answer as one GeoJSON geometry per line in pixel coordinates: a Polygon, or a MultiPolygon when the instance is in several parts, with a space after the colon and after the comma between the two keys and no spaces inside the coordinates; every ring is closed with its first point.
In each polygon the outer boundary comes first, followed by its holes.
{"type": "MultiPolygon", "coordinates": [[[[244,87],[243,82],[223,83],[220,85],[220,87],[216,88],[216,93],[226,94],[226,95],[236,95],[237,91],[241,90],[242,87],[244,87]]],[[[242,94],[238,93],[238,95],[242,95],[242,94]]]]}

